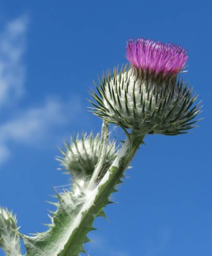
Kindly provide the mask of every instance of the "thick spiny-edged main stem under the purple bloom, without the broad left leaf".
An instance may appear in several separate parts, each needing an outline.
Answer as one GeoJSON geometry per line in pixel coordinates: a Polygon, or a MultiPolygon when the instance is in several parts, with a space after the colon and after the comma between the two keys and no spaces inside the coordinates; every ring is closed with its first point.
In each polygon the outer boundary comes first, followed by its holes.
{"type": "Polygon", "coordinates": [[[144,136],[138,139],[131,134],[131,141],[129,138],[126,139],[113,164],[97,187],[90,192],[87,201],[78,213],[75,225],[72,227],[72,238],[66,241],[64,250],[59,254],[60,256],[72,255],[73,252],[77,252],[84,230],[88,227],[89,223],[93,222],[95,216],[98,216],[102,208],[109,203],[108,197],[111,193],[115,192],[115,185],[123,177],[124,170],[135,156],[140,143],[143,142],[143,138],[144,136]]]}

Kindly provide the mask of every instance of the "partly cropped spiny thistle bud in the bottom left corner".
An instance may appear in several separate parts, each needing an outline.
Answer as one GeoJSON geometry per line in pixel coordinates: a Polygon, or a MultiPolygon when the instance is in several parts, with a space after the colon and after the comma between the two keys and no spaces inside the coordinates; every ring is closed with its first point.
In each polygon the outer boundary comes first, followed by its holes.
{"type": "Polygon", "coordinates": [[[0,246],[7,256],[20,256],[20,241],[16,216],[0,208],[0,246]]]}

